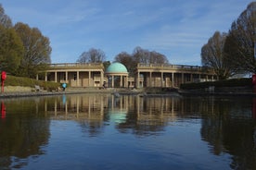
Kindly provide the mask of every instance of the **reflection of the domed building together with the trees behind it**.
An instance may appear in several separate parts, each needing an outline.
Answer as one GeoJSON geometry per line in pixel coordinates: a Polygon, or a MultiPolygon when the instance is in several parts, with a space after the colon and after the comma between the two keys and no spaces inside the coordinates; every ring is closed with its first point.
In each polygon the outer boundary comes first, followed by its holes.
{"type": "Polygon", "coordinates": [[[121,132],[133,129],[136,135],[157,134],[178,117],[197,117],[199,110],[214,112],[214,101],[200,104],[177,96],[141,97],[139,95],[81,94],[46,98],[45,113],[51,119],[75,120],[90,135],[101,133],[110,123],[121,132]]]}

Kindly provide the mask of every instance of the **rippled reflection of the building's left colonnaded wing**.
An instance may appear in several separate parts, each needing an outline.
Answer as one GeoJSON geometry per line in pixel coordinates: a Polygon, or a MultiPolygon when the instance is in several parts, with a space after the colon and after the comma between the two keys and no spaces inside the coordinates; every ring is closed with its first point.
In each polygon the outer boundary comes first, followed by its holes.
{"type": "Polygon", "coordinates": [[[105,95],[62,95],[45,100],[45,111],[54,115],[54,119],[92,119],[102,120],[104,107],[107,106],[105,95]]]}

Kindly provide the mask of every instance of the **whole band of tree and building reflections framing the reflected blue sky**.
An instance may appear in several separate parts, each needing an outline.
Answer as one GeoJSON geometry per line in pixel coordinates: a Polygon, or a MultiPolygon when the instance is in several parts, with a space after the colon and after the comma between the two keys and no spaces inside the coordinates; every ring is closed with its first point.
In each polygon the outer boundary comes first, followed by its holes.
{"type": "Polygon", "coordinates": [[[92,139],[104,136],[109,126],[117,129],[117,136],[133,134],[141,139],[196,124],[211,154],[230,155],[230,168],[256,168],[255,99],[251,98],[62,95],[2,101],[1,115],[0,169],[26,166],[24,158],[47,154],[43,148],[52,121],[76,122],[92,139]]]}

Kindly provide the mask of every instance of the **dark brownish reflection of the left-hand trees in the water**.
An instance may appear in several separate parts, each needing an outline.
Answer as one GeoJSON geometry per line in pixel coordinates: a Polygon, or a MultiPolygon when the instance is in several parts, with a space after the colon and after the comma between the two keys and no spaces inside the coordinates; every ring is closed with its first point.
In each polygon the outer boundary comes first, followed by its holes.
{"type": "Polygon", "coordinates": [[[7,101],[2,102],[3,107],[6,117],[0,123],[0,164],[1,167],[20,168],[27,164],[26,158],[44,154],[41,148],[49,138],[49,120],[37,112],[36,101],[7,101]]]}

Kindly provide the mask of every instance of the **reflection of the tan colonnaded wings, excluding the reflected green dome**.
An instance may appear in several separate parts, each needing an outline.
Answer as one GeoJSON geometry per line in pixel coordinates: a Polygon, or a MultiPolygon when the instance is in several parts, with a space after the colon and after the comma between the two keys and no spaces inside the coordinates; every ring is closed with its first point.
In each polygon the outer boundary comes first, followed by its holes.
{"type": "Polygon", "coordinates": [[[62,95],[45,99],[45,113],[52,119],[73,119],[90,121],[109,121],[111,116],[122,115],[128,118],[135,114],[137,124],[161,125],[175,121],[177,116],[190,116],[201,112],[213,114],[216,109],[213,98],[198,99],[194,103],[181,97],[141,97],[139,95],[81,94],[62,95]],[[111,115],[111,116],[110,116],[111,115]]]}

